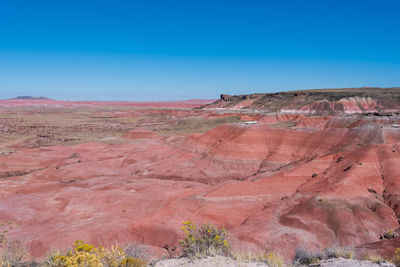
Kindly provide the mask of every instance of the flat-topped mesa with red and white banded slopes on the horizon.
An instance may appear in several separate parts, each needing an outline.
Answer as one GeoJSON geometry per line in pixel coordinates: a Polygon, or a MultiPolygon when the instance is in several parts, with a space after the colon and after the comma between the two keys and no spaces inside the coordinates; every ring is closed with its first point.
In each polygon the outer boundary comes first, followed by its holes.
{"type": "Polygon", "coordinates": [[[248,95],[221,94],[202,108],[250,109],[266,112],[335,115],[400,110],[400,87],[296,90],[248,95]]]}

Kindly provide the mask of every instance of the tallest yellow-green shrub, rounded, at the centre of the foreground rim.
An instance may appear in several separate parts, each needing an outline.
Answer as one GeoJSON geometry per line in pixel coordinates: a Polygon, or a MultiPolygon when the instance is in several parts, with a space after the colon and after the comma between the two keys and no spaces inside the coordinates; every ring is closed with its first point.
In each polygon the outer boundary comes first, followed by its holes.
{"type": "Polygon", "coordinates": [[[227,241],[228,233],[212,224],[196,226],[192,222],[184,222],[182,230],[185,236],[179,240],[183,257],[204,257],[230,254],[227,241]]]}

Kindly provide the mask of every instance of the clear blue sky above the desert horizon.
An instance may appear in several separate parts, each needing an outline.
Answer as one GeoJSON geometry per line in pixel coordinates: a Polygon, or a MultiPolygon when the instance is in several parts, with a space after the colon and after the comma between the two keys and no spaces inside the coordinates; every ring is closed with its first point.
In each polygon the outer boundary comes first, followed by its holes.
{"type": "Polygon", "coordinates": [[[400,86],[398,0],[1,0],[0,98],[400,86]]]}

